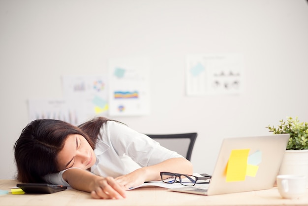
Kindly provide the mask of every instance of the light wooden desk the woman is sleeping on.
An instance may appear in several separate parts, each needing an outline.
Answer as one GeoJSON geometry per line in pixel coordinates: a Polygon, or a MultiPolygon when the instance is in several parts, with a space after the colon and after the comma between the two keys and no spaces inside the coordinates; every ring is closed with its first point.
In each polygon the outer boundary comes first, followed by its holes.
{"type": "MultiPolygon", "coordinates": [[[[15,180],[0,180],[0,190],[16,186],[15,180]]],[[[308,206],[308,190],[297,200],[282,199],[277,188],[215,196],[167,191],[160,187],[142,187],[127,191],[123,200],[94,200],[89,193],[74,189],[54,194],[0,195],[0,206],[308,206]]]]}

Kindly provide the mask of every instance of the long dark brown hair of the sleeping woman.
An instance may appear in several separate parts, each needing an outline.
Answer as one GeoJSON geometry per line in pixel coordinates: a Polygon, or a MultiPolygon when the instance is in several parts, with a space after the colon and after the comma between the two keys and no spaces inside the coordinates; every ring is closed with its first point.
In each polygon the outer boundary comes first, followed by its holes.
{"type": "Polygon", "coordinates": [[[76,127],[54,119],[29,123],[14,145],[17,180],[25,183],[43,182],[42,176],[59,172],[57,155],[68,135],[79,134],[94,149],[99,130],[107,118],[97,117],[76,127]]]}

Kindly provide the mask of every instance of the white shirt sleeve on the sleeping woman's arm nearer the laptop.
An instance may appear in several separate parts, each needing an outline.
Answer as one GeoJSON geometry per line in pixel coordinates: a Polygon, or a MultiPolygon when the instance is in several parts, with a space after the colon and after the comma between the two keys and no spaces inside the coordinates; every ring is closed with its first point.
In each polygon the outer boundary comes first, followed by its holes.
{"type": "Polygon", "coordinates": [[[128,126],[114,122],[107,122],[107,135],[118,155],[126,154],[140,166],[156,165],[167,159],[182,157],[171,151],[151,137],[138,133],[128,126]]]}

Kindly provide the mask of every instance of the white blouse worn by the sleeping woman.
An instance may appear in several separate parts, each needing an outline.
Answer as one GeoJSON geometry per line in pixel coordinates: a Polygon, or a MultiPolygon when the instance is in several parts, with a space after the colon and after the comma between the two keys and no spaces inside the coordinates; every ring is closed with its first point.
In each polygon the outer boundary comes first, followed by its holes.
{"type": "MultiPolygon", "coordinates": [[[[118,177],[141,167],[156,165],[170,158],[183,157],[160,146],[152,138],[115,121],[107,121],[103,124],[94,153],[96,162],[91,167],[91,172],[103,177],[118,177]]],[[[52,184],[69,186],[62,178],[62,174],[66,170],[47,174],[44,176],[44,180],[52,184]]]]}

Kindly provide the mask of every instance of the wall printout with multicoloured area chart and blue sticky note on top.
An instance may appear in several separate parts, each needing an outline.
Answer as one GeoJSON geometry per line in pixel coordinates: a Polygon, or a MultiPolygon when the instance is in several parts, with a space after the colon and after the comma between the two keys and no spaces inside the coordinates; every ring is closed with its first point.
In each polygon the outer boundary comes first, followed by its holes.
{"type": "Polygon", "coordinates": [[[150,113],[147,58],[109,61],[109,115],[140,116],[150,113]]]}

